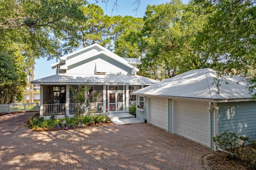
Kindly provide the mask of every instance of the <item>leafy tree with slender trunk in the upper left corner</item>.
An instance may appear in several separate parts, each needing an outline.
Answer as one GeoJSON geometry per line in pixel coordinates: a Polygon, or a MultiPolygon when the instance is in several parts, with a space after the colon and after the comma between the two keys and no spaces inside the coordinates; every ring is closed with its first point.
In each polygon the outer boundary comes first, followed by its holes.
{"type": "MultiPolygon", "coordinates": [[[[39,57],[58,58],[56,38],[68,20],[84,20],[81,6],[84,0],[2,0],[0,2],[0,42],[19,43],[26,56],[29,81],[34,77],[35,59],[39,57]],[[14,36],[16,34],[17,36],[14,36]]],[[[1,43],[2,44],[2,43],[1,43]]],[[[5,43],[3,43],[5,44],[5,43]]],[[[30,87],[30,86],[29,86],[30,87]]],[[[30,87],[33,102],[33,85],[30,87]]]]}

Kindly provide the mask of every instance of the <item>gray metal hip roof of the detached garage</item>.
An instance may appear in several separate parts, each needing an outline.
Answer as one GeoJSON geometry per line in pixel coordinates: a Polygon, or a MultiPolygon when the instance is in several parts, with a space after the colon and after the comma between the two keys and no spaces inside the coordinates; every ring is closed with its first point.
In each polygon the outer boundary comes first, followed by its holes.
{"type": "Polygon", "coordinates": [[[213,69],[198,69],[182,73],[160,83],[134,91],[133,94],[185,97],[197,99],[248,99],[251,97],[246,79],[227,76],[220,80],[220,94],[214,83],[213,69]]]}

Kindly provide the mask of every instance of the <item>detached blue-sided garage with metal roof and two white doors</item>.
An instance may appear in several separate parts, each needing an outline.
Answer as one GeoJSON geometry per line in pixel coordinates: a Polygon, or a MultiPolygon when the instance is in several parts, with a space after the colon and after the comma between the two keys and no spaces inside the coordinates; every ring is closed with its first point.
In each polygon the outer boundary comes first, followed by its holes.
{"type": "MultiPolygon", "coordinates": [[[[137,119],[216,150],[212,137],[225,130],[256,139],[256,101],[246,79],[227,76],[216,84],[216,72],[198,69],[132,92],[137,119]]],[[[256,91],[254,91],[255,93],[256,91]]]]}

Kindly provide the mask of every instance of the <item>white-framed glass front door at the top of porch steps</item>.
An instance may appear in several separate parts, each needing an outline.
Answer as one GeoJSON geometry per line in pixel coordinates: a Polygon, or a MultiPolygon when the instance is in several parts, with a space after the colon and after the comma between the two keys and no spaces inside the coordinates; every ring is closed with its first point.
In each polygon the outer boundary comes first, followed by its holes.
{"type": "Polygon", "coordinates": [[[109,93],[109,112],[117,112],[124,110],[124,93],[109,93]]]}

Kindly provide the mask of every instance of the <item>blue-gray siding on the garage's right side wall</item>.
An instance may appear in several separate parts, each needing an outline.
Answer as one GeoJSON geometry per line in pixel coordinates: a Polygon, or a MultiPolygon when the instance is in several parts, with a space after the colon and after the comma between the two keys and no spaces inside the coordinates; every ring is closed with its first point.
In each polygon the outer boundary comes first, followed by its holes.
{"type": "Polygon", "coordinates": [[[256,102],[218,103],[219,132],[225,130],[256,139],[256,102]]]}

